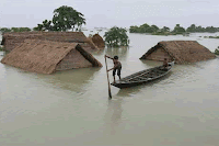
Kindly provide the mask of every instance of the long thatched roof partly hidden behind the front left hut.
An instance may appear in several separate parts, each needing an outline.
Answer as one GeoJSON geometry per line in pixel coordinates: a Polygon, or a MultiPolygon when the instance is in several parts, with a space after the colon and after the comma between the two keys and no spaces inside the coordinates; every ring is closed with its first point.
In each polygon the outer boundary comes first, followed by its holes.
{"type": "Polygon", "coordinates": [[[12,50],[25,40],[79,43],[85,50],[99,49],[82,32],[9,32],[3,33],[1,45],[12,50]]]}

